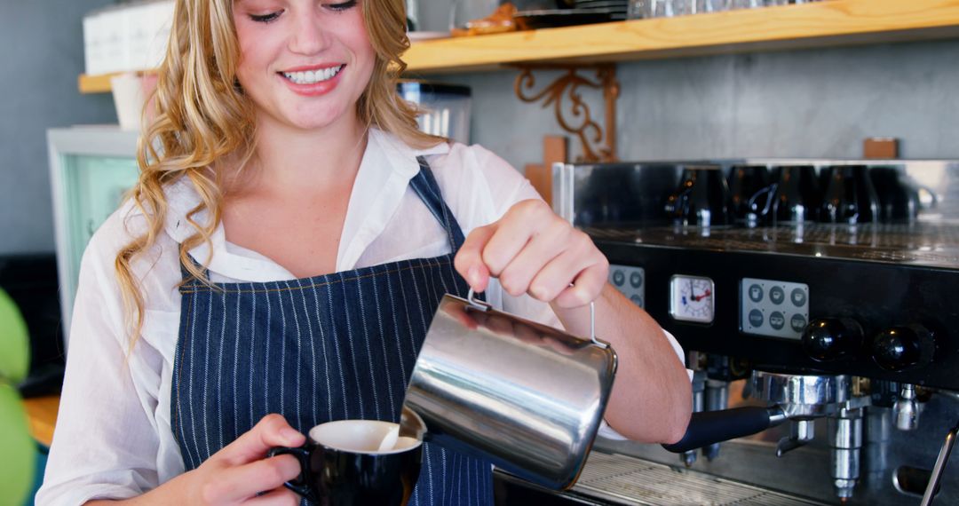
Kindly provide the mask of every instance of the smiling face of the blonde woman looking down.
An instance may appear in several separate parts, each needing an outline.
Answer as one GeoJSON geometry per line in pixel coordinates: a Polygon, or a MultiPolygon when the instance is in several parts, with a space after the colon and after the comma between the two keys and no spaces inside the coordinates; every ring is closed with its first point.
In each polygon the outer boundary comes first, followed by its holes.
{"type": "Polygon", "coordinates": [[[355,123],[376,61],[360,2],[235,0],[237,78],[261,127],[355,123]]]}

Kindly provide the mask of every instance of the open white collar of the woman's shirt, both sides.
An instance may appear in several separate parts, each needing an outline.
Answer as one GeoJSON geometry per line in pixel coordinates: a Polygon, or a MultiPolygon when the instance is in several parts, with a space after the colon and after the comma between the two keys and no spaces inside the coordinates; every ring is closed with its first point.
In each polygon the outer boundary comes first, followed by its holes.
{"type": "MultiPolygon", "coordinates": [[[[386,224],[396,213],[409,180],[419,173],[417,156],[430,156],[449,152],[447,143],[440,143],[425,150],[410,148],[393,134],[378,128],[370,128],[363,152],[363,161],[353,184],[346,219],[339,238],[337,270],[356,268],[366,248],[386,229],[386,224]]],[[[199,194],[188,178],[181,178],[167,188],[166,233],[175,242],[184,242],[195,233],[186,220],[187,214],[199,202],[199,194]]],[[[194,219],[203,223],[208,219],[206,211],[194,219]]],[[[226,236],[220,223],[210,238],[210,245],[201,242],[190,250],[190,255],[199,263],[211,256],[209,269],[223,277],[247,282],[284,281],[294,278],[281,265],[262,255],[240,255],[228,248],[226,236]]]]}

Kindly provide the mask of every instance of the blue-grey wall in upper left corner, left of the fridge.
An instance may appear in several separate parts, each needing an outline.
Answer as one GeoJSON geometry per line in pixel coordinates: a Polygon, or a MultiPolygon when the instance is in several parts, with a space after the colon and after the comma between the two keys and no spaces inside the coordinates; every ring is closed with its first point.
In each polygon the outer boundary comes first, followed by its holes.
{"type": "Polygon", "coordinates": [[[82,16],[110,3],[0,4],[0,254],[54,250],[46,129],[116,122],[109,94],[77,91],[82,16]]]}

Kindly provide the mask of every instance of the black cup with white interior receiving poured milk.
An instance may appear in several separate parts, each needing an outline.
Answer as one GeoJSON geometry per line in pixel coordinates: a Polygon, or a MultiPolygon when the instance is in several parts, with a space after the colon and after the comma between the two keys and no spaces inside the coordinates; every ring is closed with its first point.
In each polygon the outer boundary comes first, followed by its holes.
{"type": "Polygon", "coordinates": [[[382,504],[409,501],[423,462],[423,442],[399,437],[381,451],[386,433],[398,427],[375,420],[340,420],[310,429],[300,448],[278,447],[269,456],[291,454],[300,462],[300,476],[285,485],[321,506],[382,504]]]}

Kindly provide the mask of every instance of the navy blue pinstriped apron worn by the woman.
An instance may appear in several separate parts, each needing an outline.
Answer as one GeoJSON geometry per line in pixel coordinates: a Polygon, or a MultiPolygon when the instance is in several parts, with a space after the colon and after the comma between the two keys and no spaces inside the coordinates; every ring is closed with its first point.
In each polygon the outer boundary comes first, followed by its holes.
{"type": "MultiPolygon", "coordinates": [[[[399,421],[433,312],[444,293],[468,289],[453,267],[463,233],[418,160],[409,184],[452,253],[292,281],[185,278],[171,426],[188,471],[269,413],[303,433],[331,420],[399,421]]],[[[492,503],[488,462],[425,445],[409,504],[492,503]]]]}

